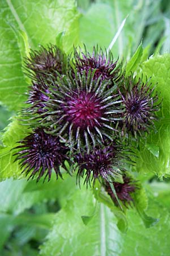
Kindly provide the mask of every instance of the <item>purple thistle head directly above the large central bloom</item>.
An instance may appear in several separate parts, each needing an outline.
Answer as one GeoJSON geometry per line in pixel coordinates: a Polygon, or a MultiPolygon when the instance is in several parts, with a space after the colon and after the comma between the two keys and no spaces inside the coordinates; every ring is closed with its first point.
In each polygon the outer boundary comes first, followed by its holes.
{"type": "Polygon", "coordinates": [[[85,52],[80,49],[80,53],[74,49],[74,62],[79,73],[95,71],[94,79],[97,80],[116,80],[118,78],[118,73],[120,72],[120,67],[117,67],[117,60],[113,60],[112,52],[105,51],[103,49],[98,49],[94,47],[92,55],[87,51],[84,46],[85,52]]]}

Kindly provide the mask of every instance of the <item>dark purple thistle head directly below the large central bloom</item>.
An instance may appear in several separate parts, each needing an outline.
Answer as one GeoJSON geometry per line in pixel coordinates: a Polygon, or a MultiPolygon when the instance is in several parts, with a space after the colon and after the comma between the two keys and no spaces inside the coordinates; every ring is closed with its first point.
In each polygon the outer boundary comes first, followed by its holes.
{"type": "Polygon", "coordinates": [[[75,162],[77,163],[79,170],[77,173],[77,179],[86,176],[84,183],[90,183],[90,181],[109,180],[110,177],[120,173],[121,156],[116,146],[105,146],[104,148],[96,148],[91,151],[90,154],[84,152],[75,155],[75,162]]]}

